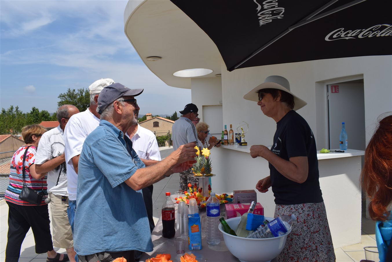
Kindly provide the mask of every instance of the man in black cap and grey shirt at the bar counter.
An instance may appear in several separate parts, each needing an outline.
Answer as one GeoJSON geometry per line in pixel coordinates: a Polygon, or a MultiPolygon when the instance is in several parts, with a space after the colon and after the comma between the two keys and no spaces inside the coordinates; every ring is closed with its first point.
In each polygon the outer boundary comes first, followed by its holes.
{"type": "MultiPolygon", "coordinates": [[[[174,122],[172,126],[172,140],[173,149],[176,150],[181,145],[187,143],[197,142],[196,127],[192,123],[194,119],[199,115],[198,108],[195,104],[187,104],[184,110],[180,111],[181,117],[174,122]]],[[[180,190],[185,191],[188,189],[188,183],[199,187],[199,179],[195,178],[192,173],[192,169],[184,170],[180,172],[180,190]]]]}

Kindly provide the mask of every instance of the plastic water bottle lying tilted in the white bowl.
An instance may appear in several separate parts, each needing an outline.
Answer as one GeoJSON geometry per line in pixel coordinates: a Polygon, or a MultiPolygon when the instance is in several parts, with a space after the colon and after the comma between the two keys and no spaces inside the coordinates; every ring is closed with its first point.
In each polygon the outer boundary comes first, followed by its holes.
{"type": "Polygon", "coordinates": [[[260,226],[256,231],[250,233],[247,238],[271,238],[281,236],[289,231],[291,225],[297,217],[292,214],[291,216],[280,215],[265,226],[260,226]]]}

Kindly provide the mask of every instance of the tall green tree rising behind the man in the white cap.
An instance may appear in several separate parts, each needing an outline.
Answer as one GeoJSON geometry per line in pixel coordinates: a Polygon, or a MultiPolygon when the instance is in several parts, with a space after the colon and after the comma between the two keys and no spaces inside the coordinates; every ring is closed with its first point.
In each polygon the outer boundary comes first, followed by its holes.
{"type": "Polygon", "coordinates": [[[73,104],[80,112],[83,112],[90,106],[90,92],[87,88],[79,88],[78,90],[68,88],[67,92],[60,93],[58,98],[60,98],[57,103],[58,107],[64,104],[73,104]]]}

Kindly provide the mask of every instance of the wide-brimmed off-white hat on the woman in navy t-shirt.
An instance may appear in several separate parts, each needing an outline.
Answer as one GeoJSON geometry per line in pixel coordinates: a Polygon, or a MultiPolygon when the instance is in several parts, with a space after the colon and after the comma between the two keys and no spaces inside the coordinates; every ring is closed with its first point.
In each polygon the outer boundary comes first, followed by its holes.
{"type": "Polygon", "coordinates": [[[259,101],[259,94],[258,91],[265,88],[274,88],[278,90],[285,91],[291,94],[294,97],[294,108],[293,110],[298,110],[299,108],[303,108],[307,105],[305,101],[294,95],[290,92],[290,84],[287,79],[281,77],[279,75],[270,75],[267,77],[263,84],[260,84],[250,90],[250,92],[244,95],[244,99],[251,100],[251,101],[259,101]]]}

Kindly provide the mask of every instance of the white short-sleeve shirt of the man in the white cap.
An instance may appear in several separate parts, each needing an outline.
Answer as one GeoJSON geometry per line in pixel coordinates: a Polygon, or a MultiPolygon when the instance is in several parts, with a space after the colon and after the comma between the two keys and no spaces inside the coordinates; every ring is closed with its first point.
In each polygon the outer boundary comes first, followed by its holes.
{"type": "Polygon", "coordinates": [[[78,174],[72,164],[72,158],[80,155],[86,137],[99,125],[100,119],[86,111],[74,114],[69,119],[64,130],[65,162],[67,164],[67,181],[69,200],[76,200],[78,174]]]}

